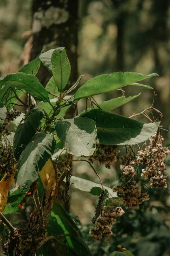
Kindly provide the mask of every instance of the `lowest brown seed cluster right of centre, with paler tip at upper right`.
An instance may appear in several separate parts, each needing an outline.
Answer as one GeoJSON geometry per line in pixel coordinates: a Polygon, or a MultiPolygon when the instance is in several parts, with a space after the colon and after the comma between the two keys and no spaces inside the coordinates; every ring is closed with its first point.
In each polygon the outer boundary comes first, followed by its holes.
{"type": "Polygon", "coordinates": [[[93,229],[90,230],[91,237],[99,240],[99,238],[111,236],[113,233],[109,226],[116,221],[116,217],[120,217],[123,213],[124,211],[120,206],[116,209],[105,210],[102,216],[95,222],[93,229]]]}

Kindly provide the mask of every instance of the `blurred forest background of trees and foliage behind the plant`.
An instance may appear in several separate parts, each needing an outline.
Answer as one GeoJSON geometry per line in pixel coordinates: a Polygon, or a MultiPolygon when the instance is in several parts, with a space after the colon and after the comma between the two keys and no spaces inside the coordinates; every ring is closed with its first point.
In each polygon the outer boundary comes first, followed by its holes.
{"type": "MultiPolygon", "coordinates": [[[[147,81],[147,84],[154,90],[137,86],[126,87],[126,97],[137,95],[139,92],[141,94],[113,112],[127,117],[141,112],[151,106],[155,91],[157,96],[154,106],[163,113],[162,125],[169,131],[170,1],[80,0],[78,9],[74,6],[77,1],[65,1],[78,15],[78,43],[75,39],[75,43],[68,45],[69,49],[67,45],[60,44],[60,34],[58,39],[56,36],[56,40],[50,40],[48,33],[38,39],[35,36],[36,33],[31,32],[35,11],[41,8],[43,2],[43,5],[49,8],[53,2],[59,1],[0,1],[0,75],[15,73],[34,54],[36,56],[33,58],[37,57],[42,49],[47,51],[56,47],[65,47],[66,51],[72,52],[72,59],[75,57],[78,60],[78,75],[84,75],[81,84],[97,75],[117,71],[138,72],[144,75],[157,73],[159,77],[147,81]],[[37,7],[35,2],[37,2],[37,7]],[[42,41],[39,47],[36,45],[38,40],[42,41]]],[[[42,33],[45,32],[42,31],[42,33]]],[[[68,37],[69,40],[70,32],[67,26],[59,33],[62,33],[63,37],[68,37]]],[[[74,37],[77,38],[77,35],[74,37]]],[[[50,77],[43,78],[41,73],[38,76],[45,86],[50,77]]],[[[120,91],[114,91],[97,95],[95,99],[101,103],[103,100],[121,97],[121,95],[120,91]]],[[[80,103],[78,107],[79,112],[84,110],[80,103]]],[[[136,119],[148,122],[144,116],[138,116],[136,119]]],[[[170,146],[170,132],[168,131],[162,131],[166,146],[170,146]]],[[[117,184],[120,178],[119,164],[112,165],[111,169],[106,169],[103,165],[96,168],[106,186],[112,188],[117,184]]],[[[167,175],[170,173],[170,159],[167,159],[166,173],[167,175]]],[[[72,174],[98,183],[97,177],[86,163],[81,163],[81,165],[76,163],[76,166],[73,164],[72,174]]],[[[168,184],[170,183],[169,177],[168,184]]],[[[109,239],[110,244],[107,245],[104,241],[93,241],[89,236],[89,229],[93,226],[94,206],[96,206],[98,197],[71,187],[70,214],[81,228],[94,256],[108,256],[112,251],[117,250],[119,244],[131,250],[136,256],[170,255],[170,191],[168,188],[154,191],[150,189],[149,195],[150,200],[145,202],[144,206],[140,206],[138,210],[129,209],[123,214],[114,226],[114,235],[109,239]]],[[[21,209],[20,215],[12,215],[8,219],[12,218],[16,227],[24,227],[31,212],[30,202],[21,209]]]]}

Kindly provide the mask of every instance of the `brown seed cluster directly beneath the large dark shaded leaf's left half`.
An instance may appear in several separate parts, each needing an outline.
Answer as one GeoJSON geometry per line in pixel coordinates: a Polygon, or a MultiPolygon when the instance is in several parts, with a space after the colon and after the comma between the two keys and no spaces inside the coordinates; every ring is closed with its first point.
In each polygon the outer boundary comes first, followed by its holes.
{"type": "Polygon", "coordinates": [[[89,161],[97,161],[98,164],[105,164],[110,169],[110,163],[116,162],[120,150],[117,145],[103,145],[96,143],[96,151],[90,156],[89,161]]]}

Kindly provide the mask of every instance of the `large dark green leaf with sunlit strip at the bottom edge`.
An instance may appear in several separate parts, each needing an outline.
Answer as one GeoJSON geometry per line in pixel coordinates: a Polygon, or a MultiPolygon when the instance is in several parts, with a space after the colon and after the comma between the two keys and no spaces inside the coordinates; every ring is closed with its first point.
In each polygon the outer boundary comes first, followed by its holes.
{"type": "MultiPolygon", "coordinates": [[[[48,224],[49,225],[46,227],[48,235],[59,237],[60,235],[65,234],[65,236],[63,236],[63,242],[67,246],[74,248],[79,253],[78,255],[92,256],[90,249],[87,247],[83,239],[81,231],[61,205],[53,205],[53,210],[51,211],[48,224]]],[[[69,247],[66,248],[68,254],[64,255],[76,255],[76,252],[70,250],[71,248],[69,247]]],[[[62,245],[60,245],[60,250],[64,251],[64,247],[62,245]]]]}

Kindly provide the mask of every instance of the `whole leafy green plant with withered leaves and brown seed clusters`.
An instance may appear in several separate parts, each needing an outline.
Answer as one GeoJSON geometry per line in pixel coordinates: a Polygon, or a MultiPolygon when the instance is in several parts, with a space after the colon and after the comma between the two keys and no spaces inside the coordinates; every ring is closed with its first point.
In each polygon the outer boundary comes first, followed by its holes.
{"type": "MultiPolygon", "coordinates": [[[[90,230],[91,236],[97,240],[102,237],[107,240],[112,235],[109,226],[124,213],[117,200],[123,200],[126,208],[132,209],[148,200],[146,185],[137,173],[139,163],[148,164],[142,177],[149,179],[152,187],[166,188],[164,157],[169,150],[162,146],[161,113],[153,105],[148,109],[159,113],[158,122],[155,122],[154,117],[153,120],[149,118],[147,110],[139,113],[151,121],[145,124],[109,112],[139,94],[128,98],[123,94],[120,98],[102,104],[93,98],[94,95],[127,85],[151,89],[137,82],[157,74],[104,74],[88,80],[71,95],[79,86],[82,76],[75,85],[65,90],[70,72],[65,48],[60,47],[40,54],[18,73],[0,78],[0,217],[2,230],[9,231],[8,241],[4,245],[5,255],[12,255],[13,251],[16,255],[47,255],[46,243],[49,240],[54,242],[57,255],[92,255],[78,226],[58,202],[63,182],[64,200],[68,207],[71,183],[80,190],[99,196],[92,220],[94,227],[90,230]],[[41,61],[52,74],[46,88],[35,77],[41,61]],[[27,94],[27,103],[22,102],[22,94],[27,94]],[[92,108],[87,109],[86,106],[85,111],[78,114],[78,101],[82,98],[89,100],[92,108]],[[14,105],[17,107],[21,104],[26,108],[25,114],[14,108],[14,105]],[[64,118],[72,105],[75,107],[75,117],[64,118]],[[10,122],[16,127],[15,133],[11,133],[8,128],[10,122]],[[144,143],[136,157],[134,145],[149,138],[149,146],[144,143]],[[93,162],[110,168],[110,164],[118,159],[120,145],[128,145],[128,149],[121,158],[120,183],[113,191],[103,185],[93,162]],[[65,158],[63,162],[58,161],[61,156],[65,158]],[[100,184],[72,176],[73,161],[87,162],[100,184]],[[15,188],[8,192],[14,180],[15,188]],[[142,188],[140,184],[143,184],[142,188]],[[27,227],[16,229],[5,215],[18,213],[29,197],[35,210],[31,213],[27,227]]],[[[118,253],[132,255],[127,254],[126,250],[118,253]]]]}

